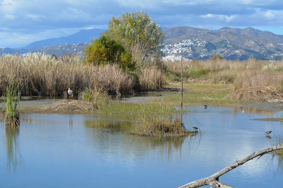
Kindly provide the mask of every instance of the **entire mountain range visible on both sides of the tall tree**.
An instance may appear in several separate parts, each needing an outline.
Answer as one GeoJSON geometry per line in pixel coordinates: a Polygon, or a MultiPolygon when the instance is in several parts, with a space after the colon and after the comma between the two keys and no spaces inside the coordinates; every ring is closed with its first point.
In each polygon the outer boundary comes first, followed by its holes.
{"type": "MultiPolygon", "coordinates": [[[[86,42],[91,38],[99,37],[103,31],[103,29],[81,30],[66,37],[36,41],[22,48],[5,48],[4,53],[45,52],[58,57],[66,53],[75,54],[83,49],[86,42]]],[[[213,31],[174,27],[164,32],[166,39],[161,46],[164,56],[183,55],[188,59],[207,59],[211,55],[220,54],[226,59],[239,60],[251,57],[281,60],[283,56],[283,35],[251,27],[246,29],[223,27],[213,31]]],[[[1,51],[0,54],[2,53],[1,51]]]]}

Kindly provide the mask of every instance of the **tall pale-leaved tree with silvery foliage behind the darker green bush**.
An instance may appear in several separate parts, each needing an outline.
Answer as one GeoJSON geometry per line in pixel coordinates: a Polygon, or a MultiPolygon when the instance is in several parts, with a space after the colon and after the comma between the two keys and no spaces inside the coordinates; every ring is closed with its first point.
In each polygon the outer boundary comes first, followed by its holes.
{"type": "Polygon", "coordinates": [[[118,39],[133,58],[142,54],[143,59],[161,57],[159,46],[165,38],[161,26],[144,11],[122,13],[118,18],[113,16],[103,35],[118,39]]]}

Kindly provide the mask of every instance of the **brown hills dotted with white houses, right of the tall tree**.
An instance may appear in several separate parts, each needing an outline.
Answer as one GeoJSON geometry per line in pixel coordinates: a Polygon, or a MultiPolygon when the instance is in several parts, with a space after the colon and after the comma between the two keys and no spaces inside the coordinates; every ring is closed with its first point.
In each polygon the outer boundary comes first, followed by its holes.
{"type": "Polygon", "coordinates": [[[224,27],[218,30],[174,27],[165,30],[162,46],[165,55],[183,55],[189,59],[207,59],[220,54],[226,59],[281,60],[283,35],[261,31],[224,27]]]}

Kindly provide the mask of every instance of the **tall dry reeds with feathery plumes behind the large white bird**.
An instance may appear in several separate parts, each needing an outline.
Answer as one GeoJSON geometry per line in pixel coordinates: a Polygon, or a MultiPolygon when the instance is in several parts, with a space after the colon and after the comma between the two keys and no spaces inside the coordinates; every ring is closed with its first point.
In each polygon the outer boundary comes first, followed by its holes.
{"type": "Polygon", "coordinates": [[[129,94],[133,80],[116,65],[82,65],[78,56],[60,60],[50,55],[29,54],[26,57],[3,54],[0,56],[0,95],[7,76],[18,75],[22,96],[56,96],[67,94],[68,88],[77,94],[87,88],[103,86],[110,94],[129,94]]]}

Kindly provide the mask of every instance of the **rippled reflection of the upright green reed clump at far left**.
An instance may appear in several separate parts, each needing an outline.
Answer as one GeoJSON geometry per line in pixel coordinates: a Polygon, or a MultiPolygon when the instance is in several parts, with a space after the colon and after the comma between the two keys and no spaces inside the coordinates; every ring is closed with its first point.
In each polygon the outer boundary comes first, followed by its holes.
{"type": "Polygon", "coordinates": [[[13,170],[14,174],[17,172],[18,164],[21,163],[21,152],[19,148],[19,126],[7,126],[6,132],[6,149],[7,149],[7,171],[13,170]]]}

